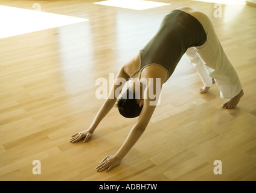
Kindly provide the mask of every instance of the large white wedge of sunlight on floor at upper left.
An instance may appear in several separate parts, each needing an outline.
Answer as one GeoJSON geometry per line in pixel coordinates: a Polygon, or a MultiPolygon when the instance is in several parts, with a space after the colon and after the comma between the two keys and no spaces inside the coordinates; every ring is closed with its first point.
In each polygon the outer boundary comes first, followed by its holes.
{"type": "Polygon", "coordinates": [[[0,5],[0,38],[85,22],[88,19],[0,5]]]}

